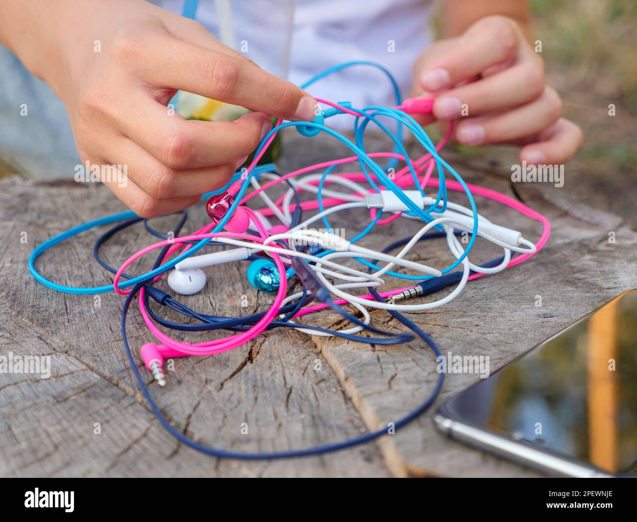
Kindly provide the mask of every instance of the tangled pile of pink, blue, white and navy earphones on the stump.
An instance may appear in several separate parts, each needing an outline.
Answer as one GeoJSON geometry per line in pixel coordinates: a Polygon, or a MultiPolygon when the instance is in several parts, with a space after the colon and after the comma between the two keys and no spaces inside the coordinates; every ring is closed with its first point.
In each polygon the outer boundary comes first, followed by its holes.
{"type": "MultiPolygon", "coordinates": [[[[130,211],[121,212],[54,236],[38,245],[29,257],[32,276],[51,289],[75,294],[114,291],[125,296],[121,319],[122,338],[140,388],[164,428],[183,444],[203,453],[220,458],[250,460],[309,456],[364,444],[387,435],[388,430],[383,428],[355,439],[314,448],[270,453],[236,453],[189,439],[175,430],[161,414],[136,366],[126,333],[127,317],[135,298],[141,317],[155,338],[155,342],[141,347],[141,358],[160,386],[167,384],[164,359],[218,354],[245,345],[276,328],[293,328],[306,335],[341,337],[354,342],[382,345],[413,342],[413,333],[438,357],[440,351],[431,337],[400,312],[429,310],[445,305],[459,296],[469,281],[502,272],[534,256],[550,235],[550,224],[544,216],[504,194],[469,185],[462,180],[440,156],[441,147],[452,133],[452,124],[440,142],[433,143],[412,117],[412,114],[431,112],[433,100],[401,99],[395,80],[382,66],[370,62],[347,62],[327,69],[302,87],[306,88],[335,71],[354,66],[373,66],[388,75],[396,94],[396,106],[355,108],[349,102],[333,103],[315,98],[323,107],[312,121],[278,120],[259,143],[247,168],[236,172],[221,189],[202,196],[201,199],[206,201],[210,224],[180,235],[188,219],[184,210],[176,213],[178,221],[173,232],[164,234],[154,229],[147,219],[130,211]],[[353,141],[326,126],[326,120],[335,116],[354,119],[353,141]],[[390,124],[387,124],[388,120],[390,124]],[[391,152],[366,151],[365,135],[370,124],[389,138],[391,152]],[[396,126],[395,131],[389,128],[393,124],[396,126]],[[259,164],[275,136],[285,129],[296,129],[308,138],[323,133],[345,145],[352,156],[322,161],[288,173],[280,173],[272,163],[259,164]],[[412,158],[407,154],[403,145],[405,131],[422,147],[422,156],[412,158]],[[387,160],[384,168],[377,163],[380,160],[387,160]],[[397,168],[401,163],[404,166],[397,168]],[[356,164],[358,170],[350,168],[356,164]],[[339,169],[348,171],[337,171],[339,169]],[[433,177],[434,172],[437,177],[433,177]],[[447,179],[445,173],[450,174],[452,179],[447,179]],[[268,191],[277,187],[284,187],[284,190],[273,198],[268,191]],[[468,206],[451,201],[448,197],[450,191],[463,193],[468,206]],[[310,196],[310,199],[302,196],[310,196]],[[520,231],[498,225],[478,214],[474,196],[493,199],[539,221],[543,227],[539,240],[533,243],[524,238],[520,231]],[[261,201],[263,207],[252,208],[257,206],[255,201],[261,201]],[[248,202],[252,207],[247,206],[248,202]],[[315,212],[311,217],[304,217],[303,214],[308,211],[315,212]],[[360,215],[362,212],[362,217],[350,221],[359,227],[357,233],[348,238],[332,228],[334,215],[346,212],[350,215],[360,215]],[[380,249],[362,245],[377,229],[401,218],[420,222],[419,230],[380,249]],[[126,259],[118,268],[101,259],[99,251],[104,242],[140,222],[143,222],[145,231],[155,238],[154,243],[124,256],[126,259]],[[311,228],[317,222],[325,228],[311,228]],[[46,250],[103,225],[111,225],[111,228],[97,238],[93,255],[99,265],[113,273],[113,284],[62,286],[38,272],[36,261],[46,250]],[[486,263],[470,261],[469,256],[473,259],[473,246],[478,238],[492,243],[502,254],[486,263]],[[454,261],[448,266],[436,268],[408,256],[420,242],[438,239],[446,241],[453,256],[454,261]],[[218,247],[224,249],[219,250],[218,247]],[[195,255],[204,248],[207,253],[195,255]],[[131,263],[154,250],[159,250],[159,254],[148,272],[140,275],[126,272],[131,263]],[[397,252],[392,254],[394,250],[397,252]],[[203,268],[241,261],[249,263],[247,277],[250,284],[257,291],[273,294],[273,301],[267,309],[245,317],[206,314],[193,310],[160,287],[162,277],[168,275],[168,286],[175,293],[194,294],[206,286],[203,268]],[[393,279],[408,281],[412,286],[383,289],[393,279]],[[300,291],[289,294],[288,289],[299,283],[300,291]],[[452,286],[455,288],[450,293],[437,300],[404,303],[452,286]],[[366,289],[369,293],[353,293],[360,289],[366,289]],[[344,306],[353,307],[354,314],[344,306]],[[183,315],[185,322],[168,320],[154,308],[183,315]],[[348,324],[336,331],[308,324],[305,320],[313,312],[326,308],[340,315],[348,324]],[[368,308],[386,310],[412,333],[395,333],[376,328],[371,324],[368,308]],[[161,328],[183,333],[224,330],[229,335],[190,344],[170,337],[161,328]],[[360,335],[362,332],[371,337],[360,335]]],[[[443,373],[439,373],[431,394],[415,410],[392,423],[392,427],[398,430],[424,412],[435,400],[442,384],[443,373]]]]}

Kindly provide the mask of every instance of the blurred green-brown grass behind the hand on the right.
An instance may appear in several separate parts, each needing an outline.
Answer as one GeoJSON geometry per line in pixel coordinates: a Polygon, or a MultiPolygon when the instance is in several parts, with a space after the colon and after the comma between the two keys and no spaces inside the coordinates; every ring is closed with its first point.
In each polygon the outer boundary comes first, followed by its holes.
{"type": "Polygon", "coordinates": [[[637,226],[637,1],[532,0],[534,40],[564,115],[584,132],[566,165],[575,201],[637,226]],[[615,115],[609,115],[609,105],[615,115]]]}

